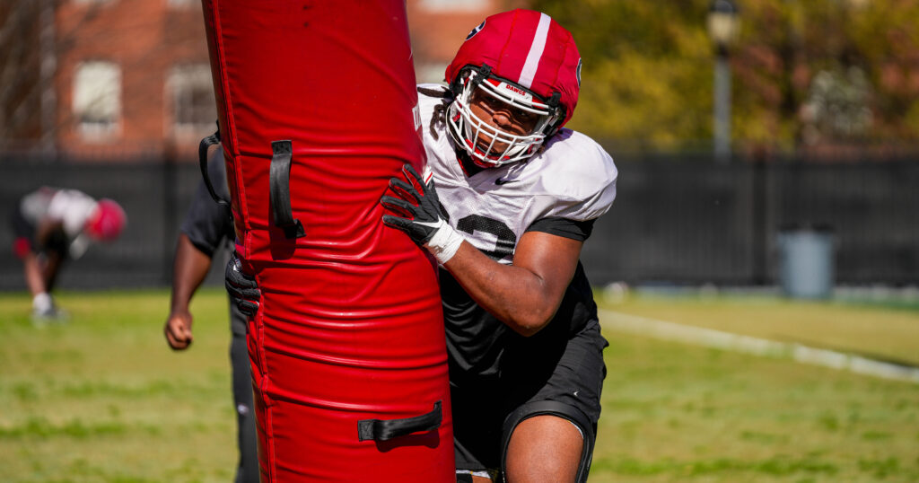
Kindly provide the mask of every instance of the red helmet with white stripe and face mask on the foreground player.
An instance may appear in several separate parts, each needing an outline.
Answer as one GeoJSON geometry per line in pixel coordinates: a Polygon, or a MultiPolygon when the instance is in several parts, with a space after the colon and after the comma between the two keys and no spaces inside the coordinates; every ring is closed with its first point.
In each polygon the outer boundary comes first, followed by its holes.
{"type": "Polygon", "coordinates": [[[487,17],[472,29],[448,65],[446,78],[455,98],[448,110],[450,136],[476,164],[501,166],[536,154],[546,137],[571,119],[581,86],[581,55],[571,32],[558,22],[516,9],[487,17]],[[514,135],[482,121],[470,109],[476,88],[538,114],[536,127],[514,135]],[[484,151],[476,146],[480,134],[492,139],[484,151]],[[493,153],[495,143],[507,147],[493,153]]]}

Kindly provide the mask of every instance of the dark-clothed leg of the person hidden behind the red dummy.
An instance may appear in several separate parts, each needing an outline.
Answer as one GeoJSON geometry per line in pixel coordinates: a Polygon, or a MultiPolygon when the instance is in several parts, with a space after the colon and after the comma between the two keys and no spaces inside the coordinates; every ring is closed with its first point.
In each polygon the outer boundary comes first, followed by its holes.
{"type": "Polygon", "coordinates": [[[245,344],[245,315],[235,304],[230,305],[230,362],[233,367],[233,406],[236,409],[236,439],[239,465],[236,483],[258,483],[258,435],[252,401],[252,369],[249,350],[245,344]]]}

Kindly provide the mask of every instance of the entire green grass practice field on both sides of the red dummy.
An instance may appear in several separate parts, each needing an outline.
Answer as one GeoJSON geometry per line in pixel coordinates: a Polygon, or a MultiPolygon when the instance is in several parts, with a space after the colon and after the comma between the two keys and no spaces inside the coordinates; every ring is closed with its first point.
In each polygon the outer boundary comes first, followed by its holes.
{"type": "MultiPolygon", "coordinates": [[[[170,351],[167,293],[62,293],[34,327],[0,294],[0,481],[230,481],[226,299],[170,351]]],[[[919,311],[769,298],[637,297],[608,309],[919,362],[919,311]]],[[[600,482],[919,481],[919,385],[605,330],[600,482]]]]}

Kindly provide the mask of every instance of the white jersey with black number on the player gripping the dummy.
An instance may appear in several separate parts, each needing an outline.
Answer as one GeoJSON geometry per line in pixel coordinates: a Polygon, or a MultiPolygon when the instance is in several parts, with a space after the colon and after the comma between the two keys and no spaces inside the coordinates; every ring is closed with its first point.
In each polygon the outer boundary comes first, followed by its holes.
{"type": "Polygon", "coordinates": [[[534,222],[587,222],[609,210],[616,198],[618,172],[612,157],[589,137],[562,129],[528,161],[467,177],[447,130],[437,129],[437,139],[430,132],[434,107],[442,101],[419,92],[427,169],[433,173],[449,224],[474,247],[510,264],[517,241],[534,222]]]}

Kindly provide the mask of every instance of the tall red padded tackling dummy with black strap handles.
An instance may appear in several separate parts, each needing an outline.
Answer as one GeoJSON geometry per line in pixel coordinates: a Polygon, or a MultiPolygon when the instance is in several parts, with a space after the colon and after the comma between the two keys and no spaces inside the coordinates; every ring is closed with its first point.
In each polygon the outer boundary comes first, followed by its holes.
{"type": "Polygon", "coordinates": [[[403,0],[203,5],[262,481],[455,481],[436,268],[380,222],[424,164],[403,0]]]}

